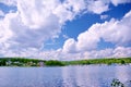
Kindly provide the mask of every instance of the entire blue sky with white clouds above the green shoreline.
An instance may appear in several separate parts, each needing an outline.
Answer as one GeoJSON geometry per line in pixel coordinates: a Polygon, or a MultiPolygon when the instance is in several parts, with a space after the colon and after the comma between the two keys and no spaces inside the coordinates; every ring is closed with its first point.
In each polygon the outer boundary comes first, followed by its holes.
{"type": "Polygon", "coordinates": [[[131,0],[0,0],[0,58],[131,57],[131,0]]]}

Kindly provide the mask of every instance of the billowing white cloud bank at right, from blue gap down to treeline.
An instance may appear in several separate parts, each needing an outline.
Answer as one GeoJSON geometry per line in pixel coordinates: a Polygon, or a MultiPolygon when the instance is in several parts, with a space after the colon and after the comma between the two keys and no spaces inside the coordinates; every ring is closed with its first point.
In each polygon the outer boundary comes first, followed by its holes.
{"type": "Polygon", "coordinates": [[[69,38],[64,42],[62,50],[68,53],[63,57],[69,58],[69,60],[131,57],[131,47],[124,47],[131,44],[131,38],[129,38],[130,21],[131,11],[120,21],[111,18],[109,22],[92,25],[86,32],[81,33],[76,40],[69,38]],[[116,47],[96,50],[100,39],[112,42],[116,47]]]}

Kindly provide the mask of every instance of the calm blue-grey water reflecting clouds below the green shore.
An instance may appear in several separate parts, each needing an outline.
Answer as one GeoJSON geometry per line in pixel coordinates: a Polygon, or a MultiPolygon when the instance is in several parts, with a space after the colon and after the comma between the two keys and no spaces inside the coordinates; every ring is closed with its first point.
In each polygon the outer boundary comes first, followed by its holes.
{"type": "Polygon", "coordinates": [[[131,87],[131,65],[0,67],[0,87],[110,87],[114,78],[131,87]]]}

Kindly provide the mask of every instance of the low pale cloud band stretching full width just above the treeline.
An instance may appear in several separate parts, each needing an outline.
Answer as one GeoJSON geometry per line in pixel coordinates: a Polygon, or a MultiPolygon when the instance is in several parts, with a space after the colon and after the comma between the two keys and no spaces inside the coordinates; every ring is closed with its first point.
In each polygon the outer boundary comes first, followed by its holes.
{"type": "Polygon", "coordinates": [[[25,57],[25,58],[39,58],[45,60],[84,60],[84,59],[102,59],[102,58],[127,58],[131,57],[131,47],[117,47],[117,48],[108,48],[104,50],[92,50],[84,52],[73,52],[67,53],[63,52],[62,49],[58,50],[48,50],[48,51],[39,51],[38,49],[24,49],[22,51],[2,51],[5,53],[4,57],[25,57]]]}

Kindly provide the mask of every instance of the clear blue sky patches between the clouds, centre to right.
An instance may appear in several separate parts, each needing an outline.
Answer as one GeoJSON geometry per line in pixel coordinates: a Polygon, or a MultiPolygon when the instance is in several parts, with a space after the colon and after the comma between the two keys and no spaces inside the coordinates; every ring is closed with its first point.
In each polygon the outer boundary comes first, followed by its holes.
{"type": "MultiPolygon", "coordinates": [[[[76,39],[79,34],[87,30],[93,24],[95,23],[104,23],[105,21],[110,21],[110,18],[116,18],[116,20],[121,20],[123,15],[131,10],[131,3],[127,4],[119,4],[118,7],[114,7],[110,4],[109,11],[102,13],[102,15],[108,15],[108,17],[102,20],[99,14],[94,14],[94,13],[85,13],[81,16],[78,16],[73,21],[68,21],[63,27],[62,34],[70,38],[76,39]]],[[[47,49],[58,49],[63,46],[66,38],[61,38],[60,36],[58,39],[56,39],[56,44],[50,44],[53,42],[51,40],[47,41],[47,49]]],[[[98,45],[98,49],[105,49],[105,48],[114,48],[115,45],[111,42],[105,42],[100,41],[98,45]]],[[[130,45],[129,45],[130,47],[130,45]]]]}

